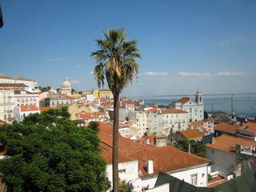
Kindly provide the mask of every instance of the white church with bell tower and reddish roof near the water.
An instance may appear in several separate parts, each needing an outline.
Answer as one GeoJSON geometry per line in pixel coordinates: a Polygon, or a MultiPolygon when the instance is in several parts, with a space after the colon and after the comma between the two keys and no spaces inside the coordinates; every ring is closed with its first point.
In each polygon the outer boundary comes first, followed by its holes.
{"type": "Polygon", "coordinates": [[[204,102],[202,93],[199,91],[195,94],[195,101],[191,98],[181,98],[178,102],[172,102],[170,108],[188,112],[190,122],[197,122],[204,118],[204,102]]]}

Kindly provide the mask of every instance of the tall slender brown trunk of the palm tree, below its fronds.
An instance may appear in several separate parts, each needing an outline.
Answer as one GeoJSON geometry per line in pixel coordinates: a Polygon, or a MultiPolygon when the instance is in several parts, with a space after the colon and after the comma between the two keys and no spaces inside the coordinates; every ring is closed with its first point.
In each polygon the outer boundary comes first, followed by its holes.
{"type": "Polygon", "coordinates": [[[114,95],[114,126],[113,126],[113,191],[118,192],[118,126],[119,126],[119,94],[114,95]]]}

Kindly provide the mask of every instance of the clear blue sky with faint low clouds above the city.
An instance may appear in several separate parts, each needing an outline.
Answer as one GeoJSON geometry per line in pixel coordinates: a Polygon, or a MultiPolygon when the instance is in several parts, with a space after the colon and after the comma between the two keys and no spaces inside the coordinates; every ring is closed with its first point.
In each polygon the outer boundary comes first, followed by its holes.
{"type": "MultiPolygon", "coordinates": [[[[142,58],[126,96],[256,92],[255,0],[0,0],[0,74],[97,89],[90,52],[124,28],[142,58]]],[[[104,87],[107,89],[107,86],[104,87]]]]}

